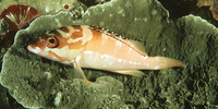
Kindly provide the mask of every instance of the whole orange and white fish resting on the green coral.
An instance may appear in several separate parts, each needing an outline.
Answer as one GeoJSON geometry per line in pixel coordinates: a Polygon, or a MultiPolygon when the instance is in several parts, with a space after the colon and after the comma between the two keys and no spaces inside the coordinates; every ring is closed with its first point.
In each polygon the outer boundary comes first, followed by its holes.
{"type": "Polygon", "coordinates": [[[47,59],[81,68],[143,75],[137,70],[160,70],[182,66],[181,61],[166,57],[148,57],[138,41],[125,40],[104,29],[92,26],[66,26],[44,34],[27,49],[47,59]]]}

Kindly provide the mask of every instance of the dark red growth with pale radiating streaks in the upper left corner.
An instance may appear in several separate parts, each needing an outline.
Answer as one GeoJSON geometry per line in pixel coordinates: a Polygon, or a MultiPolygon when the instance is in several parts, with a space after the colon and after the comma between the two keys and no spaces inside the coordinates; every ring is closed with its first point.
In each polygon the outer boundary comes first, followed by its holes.
{"type": "Polygon", "coordinates": [[[13,4],[0,14],[0,61],[7,49],[11,47],[19,29],[26,28],[29,23],[40,16],[32,7],[13,4]]]}

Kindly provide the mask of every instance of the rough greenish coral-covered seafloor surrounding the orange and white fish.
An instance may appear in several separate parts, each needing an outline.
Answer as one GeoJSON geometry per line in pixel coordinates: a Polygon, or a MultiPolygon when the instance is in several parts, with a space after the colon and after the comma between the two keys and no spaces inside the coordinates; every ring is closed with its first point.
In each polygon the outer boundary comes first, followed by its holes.
{"type": "Polygon", "coordinates": [[[197,16],[204,14],[196,10],[209,11],[196,9],[194,0],[174,0],[179,7],[172,7],[170,0],[160,0],[161,3],[157,0],[7,1],[0,0],[1,11],[10,4],[22,3],[34,7],[41,16],[16,33],[14,44],[3,57],[2,109],[218,108],[217,22],[211,15],[202,16],[208,20],[197,16]],[[69,10],[62,9],[65,4],[70,5],[69,10]],[[86,86],[83,80],[74,77],[72,66],[26,49],[44,32],[68,25],[107,28],[145,44],[149,56],[178,59],[186,66],[144,70],[145,75],[140,77],[84,69],[86,77],[95,82],[94,86],[86,86]]]}

